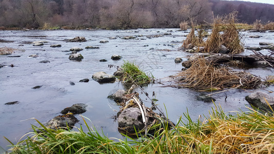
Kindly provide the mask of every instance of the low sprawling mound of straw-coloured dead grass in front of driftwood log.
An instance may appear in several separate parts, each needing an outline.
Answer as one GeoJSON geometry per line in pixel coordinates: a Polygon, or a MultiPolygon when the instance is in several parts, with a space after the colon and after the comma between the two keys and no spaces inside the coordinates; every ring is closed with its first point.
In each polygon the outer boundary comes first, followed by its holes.
{"type": "Polygon", "coordinates": [[[197,90],[221,90],[224,88],[254,88],[262,82],[247,72],[235,72],[227,67],[217,68],[203,57],[192,63],[191,67],[175,76],[181,87],[197,90]]]}

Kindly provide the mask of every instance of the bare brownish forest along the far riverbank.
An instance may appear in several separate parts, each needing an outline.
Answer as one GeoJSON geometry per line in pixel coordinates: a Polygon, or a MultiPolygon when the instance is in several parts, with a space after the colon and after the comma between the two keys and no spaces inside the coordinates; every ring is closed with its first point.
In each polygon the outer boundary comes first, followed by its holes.
{"type": "Polygon", "coordinates": [[[176,28],[238,11],[239,22],[274,22],[274,5],[220,0],[0,0],[0,26],[21,28],[176,28]]]}

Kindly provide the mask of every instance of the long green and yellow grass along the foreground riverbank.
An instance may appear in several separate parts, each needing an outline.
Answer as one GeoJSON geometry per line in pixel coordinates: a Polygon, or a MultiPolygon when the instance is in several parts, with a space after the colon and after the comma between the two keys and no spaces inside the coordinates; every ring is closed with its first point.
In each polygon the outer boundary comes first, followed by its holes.
{"type": "MultiPolygon", "coordinates": [[[[273,153],[274,114],[249,108],[225,113],[215,105],[204,120],[188,112],[175,129],[160,128],[154,136],[133,140],[107,138],[89,127],[84,132],[32,126],[27,139],[12,145],[11,153],[273,153]],[[40,133],[36,129],[43,130],[40,133]],[[116,141],[114,141],[116,140],[116,141]],[[128,141],[130,140],[130,141],[128,141]]],[[[36,120],[37,121],[37,120],[36,120]]],[[[167,125],[167,124],[166,124],[167,125]]],[[[11,143],[11,142],[10,142],[11,143]]],[[[11,143],[12,144],[12,143],[11,143]]]]}

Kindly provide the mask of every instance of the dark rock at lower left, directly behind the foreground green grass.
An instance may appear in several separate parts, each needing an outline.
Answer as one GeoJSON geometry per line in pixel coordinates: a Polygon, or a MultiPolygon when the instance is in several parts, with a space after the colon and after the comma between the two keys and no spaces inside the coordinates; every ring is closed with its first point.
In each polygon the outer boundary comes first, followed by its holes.
{"type": "Polygon", "coordinates": [[[79,120],[73,114],[58,115],[45,124],[47,128],[58,129],[60,127],[72,128],[79,120]]]}

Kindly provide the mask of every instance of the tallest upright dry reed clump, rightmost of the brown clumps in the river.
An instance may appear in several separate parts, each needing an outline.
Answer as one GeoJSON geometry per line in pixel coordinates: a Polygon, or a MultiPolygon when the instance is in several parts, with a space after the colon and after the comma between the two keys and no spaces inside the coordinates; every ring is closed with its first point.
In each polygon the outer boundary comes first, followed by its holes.
{"type": "Polygon", "coordinates": [[[232,12],[225,17],[226,29],[222,34],[223,45],[227,47],[232,54],[244,52],[243,37],[239,35],[236,29],[236,12],[232,12]]]}

